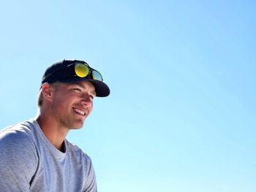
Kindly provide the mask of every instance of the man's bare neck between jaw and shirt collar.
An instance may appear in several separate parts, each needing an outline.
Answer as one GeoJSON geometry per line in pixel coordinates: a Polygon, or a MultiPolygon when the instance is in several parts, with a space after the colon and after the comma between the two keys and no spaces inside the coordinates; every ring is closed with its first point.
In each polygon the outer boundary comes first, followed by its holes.
{"type": "Polygon", "coordinates": [[[36,119],[37,123],[49,142],[57,149],[64,152],[64,139],[69,130],[63,126],[60,126],[56,120],[51,118],[51,115],[46,114],[47,113],[39,112],[36,119]]]}

